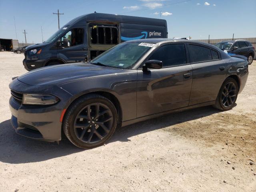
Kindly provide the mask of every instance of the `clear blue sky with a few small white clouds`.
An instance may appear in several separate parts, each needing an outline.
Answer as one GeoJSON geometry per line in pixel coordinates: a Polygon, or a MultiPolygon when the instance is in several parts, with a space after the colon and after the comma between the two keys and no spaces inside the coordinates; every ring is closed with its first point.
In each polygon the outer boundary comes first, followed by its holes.
{"type": "Polygon", "coordinates": [[[0,0],[0,38],[42,42],[73,18],[94,11],[165,19],[168,37],[193,39],[256,37],[256,0],[0,0]],[[178,3],[182,2],[182,3],[178,3]],[[177,3],[177,4],[175,4],[177,3]]]}

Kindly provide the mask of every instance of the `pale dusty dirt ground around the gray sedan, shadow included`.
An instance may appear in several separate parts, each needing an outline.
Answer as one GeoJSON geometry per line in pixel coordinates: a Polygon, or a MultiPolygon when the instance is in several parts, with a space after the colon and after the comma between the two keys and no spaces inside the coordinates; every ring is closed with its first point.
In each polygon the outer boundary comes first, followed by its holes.
{"type": "Polygon", "coordinates": [[[58,145],[15,133],[8,84],[26,72],[23,58],[0,52],[1,192],[256,191],[256,61],[232,110],[170,114],[81,150],[66,139],[58,145]]]}

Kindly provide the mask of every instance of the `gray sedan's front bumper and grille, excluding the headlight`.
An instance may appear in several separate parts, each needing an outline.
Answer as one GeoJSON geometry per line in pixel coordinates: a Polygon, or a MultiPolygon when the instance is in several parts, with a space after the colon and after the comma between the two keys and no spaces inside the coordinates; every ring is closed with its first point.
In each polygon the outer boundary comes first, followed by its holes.
{"type": "MultiPolygon", "coordinates": [[[[35,91],[38,94],[43,94],[50,90],[49,86],[30,86],[17,79],[13,80],[10,84],[10,89],[19,93],[32,94],[35,91]]],[[[60,98],[60,101],[54,105],[23,105],[17,102],[12,96],[10,97],[11,123],[16,133],[37,140],[61,140],[62,122],[60,122],[60,116],[71,95],[57,86],[51,86],[51,89],[60,98]]],[[[48,93],[53,94],[52,92],[48,93]]]]}

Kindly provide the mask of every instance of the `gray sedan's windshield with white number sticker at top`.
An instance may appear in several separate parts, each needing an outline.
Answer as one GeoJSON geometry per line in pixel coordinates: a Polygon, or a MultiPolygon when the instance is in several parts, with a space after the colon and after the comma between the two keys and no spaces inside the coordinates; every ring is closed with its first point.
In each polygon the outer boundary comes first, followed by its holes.
{"type": "Polygon", "coordinates": [[[92,60],[92,64],[128,69],[131,68],[155,44],[125,42],[102,53],[92,60]]]}

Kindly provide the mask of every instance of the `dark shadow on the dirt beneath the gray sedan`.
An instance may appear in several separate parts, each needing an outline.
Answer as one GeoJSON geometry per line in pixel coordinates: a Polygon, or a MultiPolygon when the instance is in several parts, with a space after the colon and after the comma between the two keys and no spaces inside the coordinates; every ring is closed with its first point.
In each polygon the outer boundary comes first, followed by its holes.
{"type": "MultiPolygon", "coordinates": [[[[132,136],[196,120],[218,112],[221,111],[207,106],[117,128],[112,138],[106,144],[116,141],[127,142],[132,136]]],[[[6,120],[0,123],[0,151],[1,162],[20,164],[40,162],[84,150],[71,144],[67,138],[63,138],[58,145],[56,142],[43,142],[20,136],[15,133],[10,120],[6,120]]]]}

